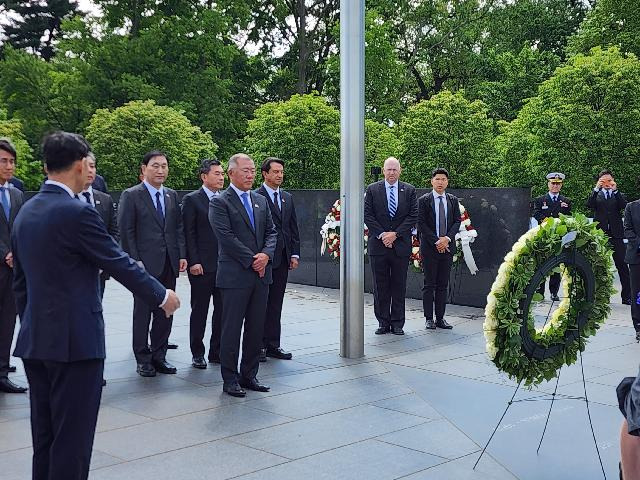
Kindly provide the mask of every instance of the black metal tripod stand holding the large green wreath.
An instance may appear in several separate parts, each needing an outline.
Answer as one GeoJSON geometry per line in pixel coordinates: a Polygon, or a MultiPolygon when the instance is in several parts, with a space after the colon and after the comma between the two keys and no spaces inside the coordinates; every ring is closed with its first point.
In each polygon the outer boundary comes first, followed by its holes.
{"type": "MultiPolygon", "coordinates": [[[[533,295],[535,294],[537,288],[538,288],[538,284],[542,281],[545,281],[547,274],[549,274],[554,268],[558,267],[559,265],[563,264],[564,268],[567,268],[567,265],[572,266],[573,268],[571,269],[571,278],[573,283],[575,284],[575,280],[576,280],[576,271],[579,270],[582,273],[582,277],[584,280],[584,294],[587,300],[587,303],[591,303],[593,302],[594,299],[594,292],[595,292],[595,277],[593,274],[593,270],[591,269],[591,265],[589,264],[589,262],[587,261],[587,259],[580,253],[577,251],[577,247],[576,247],[576,243],[575,243],[575,238],[576,238],[576,232],[570,232],[568,234],[566,234],[563,239],[562,239],[562,247],[564,248],[564,246],[573,241],[573,247],[571,248],[571,250],[569,251],[564,251],[562,252],[560,255],[557,255],[555,257],[550,258],[549,260],[547,260],[535,273],[535,275],[533,276],[533,278],[531,279],[531,281],[529,282],[529,285],[527,286],[527,288],[525,289],[525,298],[523,298],[522,300],[520,300],[520,311],[522,312],[522,326],[520,328],[520,336],[522,338],[522,347],[524,350],[524,353],[527,357],[529,358],[534,358],[536,360],[544,360],[545,358],[548,357],[552,357],[555,356],[556,354],[558,354],[560,351],[562,351],[565,346],[569,343],[573,343],[574,341],[578,341],[580,342],[580,345],[578,345],[578,353],[580,356],[580,371],[582,373],[582,386],[584,389],[584,396],[580,396],[580,397],[574,397],[574,396],[570,396],[570,395],[564,395],[562,393],[558,393],[558,383],[560,382],[560,372],[562,370],[562,367],[560,369],[558,369],[558,375],[556,377],[556,386],[555,389],[553,390],[552,394],[548,394],[548,393],[542,393],[539,395],[534,395],[532,397],[527,397],[527,398],[521,398],[521,399],[517,399],[516,400],[516,395],[518,393],[518,390],[520,390],[520,387],[522,386],[522,380],[520,380],[520,382],[518,382],[518,385],[516,386],[515,391],[513,392],[513,395],[511,396],[511,399],[507,402],[507,406],[504,409],[504,412],[502,413],[502,416],[500,417],[500,420],[498,420],[498,423],[496,425],[496,427],[493,429],[493,433],[491,433],[491,436],[489,437],[489,440],[487,440],[487,443],[485,444],[484,448],[482,449],[482,452],[480,453],[480,456],[478,457],[478,460],[476,460],[476,463],[473,465],[473,470],[475,470],[475,468],[478,466],[478,463],[480,463],[480,460],[482,459],[482,456],[484,455],[485,451],[487,450],[487,448],[489,447],[489,444],[491,443],[491,440],[493,439],[493,437],[495,436],[496,432],[498,431],[498,428],[500,428],[500,425],[502,424],[502,420],[504,420],[504,417],[507,415],[507,412],[509,411],[509,408],[511,407],[511,405],[513,405],[514,403],[518,403],[518,402],[536,402],[536,401],[551,401],[551,404],[549,405],[549,412],[547,413],[547,419],[545,421],[544,424],[544,429],[542,430],[542,436],[540,437],[540,442],[538,443],[538,449],[536,450],[536,453],[540,452],[540,447],[542,446],[542,441],[544,440],[544,435],[547,432],[547,426],[549,424],[549,418],[551,417],[551,411],[553,409],[553,405],[557,400],[580,400],[580,401],[584,401],[585,402],[585,406],[586,406],[586,410],[587,410],[587,417],[589,419],[589,426],[591,428],[591,435],[593,437],[593,443],[596,447],[596,453],[598,454],[598,460],[600,461],[600,468],[602,469],[602,476],[604,477],[604,479],[607,479],[607,474],[605,473],[604,470],[604,464],[602,463],[602,457],[600,455],[600,449],[598,448],[598,442],[596,440],[596,434],[595,431],[593,429],[593,422],[591,421],[591,411],[589,409],[589,397],[587,395],[587,384],[585,381],[585,377],[584,377],[584,364],[582,361],[582,347],[584,347],[583,345],[583,340],[581,338],[581,332],[582,332],[582,328],[584,328],[585,323],[587,322],[588,319],[588,311],[586,311],[584,308],[578,313],[577,318],[576,318],[576,326],[577,329],[575,330],[569,330],[567,329],[567,332],[565,333],[565,337],[564,337],[564,343],[557,343],[557,344],[553,344],[550,346],[543,346],[543,345],[538,345],[530,336],[529,334],[529,330],[528,330],[528,314],[529,314],[529,308],[531,306],[531,302],[532,302],[532,298],[533,295]]],[[[573,301],[573,298],[569,298],[569,311],[571,311],[571,302],[573,301]]],[[[547,318],[545,320],[545,324],[546,322],[549,321],[549,317],[551,314],[551,309],[553,308],[553,304],[554,302],[551,302],[551,306],[549,307],[549,312],[547,313],[547,318]]]]}

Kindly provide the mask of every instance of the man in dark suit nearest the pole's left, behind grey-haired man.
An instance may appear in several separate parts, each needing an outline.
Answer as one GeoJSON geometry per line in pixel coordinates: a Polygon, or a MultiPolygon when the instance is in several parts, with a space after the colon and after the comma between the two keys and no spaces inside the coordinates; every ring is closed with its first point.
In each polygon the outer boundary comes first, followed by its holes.
{"type": "Polygon", "coordinates": [[[271,218],[278,232],[276,250],[271,262],[273,283],[269,286],[269,299],[264,322],[260,360],[267,357],[291,360],[291,353],[280,347],[282,330],[282,302],[287,288],[289,270],[298,268],[300,261],[300,233],[293,197],[280,188],[284,180],[284,160],[268,157],[260,167],[264,183],[257,192],[267,199],[271,218]]]}

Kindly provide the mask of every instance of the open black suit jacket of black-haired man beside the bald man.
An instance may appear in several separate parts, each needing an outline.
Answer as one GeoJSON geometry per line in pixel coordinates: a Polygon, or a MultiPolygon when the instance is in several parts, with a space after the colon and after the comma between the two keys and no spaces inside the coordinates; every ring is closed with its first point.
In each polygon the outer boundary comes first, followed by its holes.
{"type": "MultiPolygon", "coordinates": [[[[458,197],[445,193],[447,197],[447,234],[451,239],[449,251],[451,255],[456,253],[456,233],[460,230],[460,202],[458,197]]],[[[433,191],[425,193],[418,200],[418,234],[420,235],[420,250],[425,252],[430,249],[437,252],[436,242],[436,211],[433,191]]],[[[424,256],[424,255],[423,255],[424,256]]]]}

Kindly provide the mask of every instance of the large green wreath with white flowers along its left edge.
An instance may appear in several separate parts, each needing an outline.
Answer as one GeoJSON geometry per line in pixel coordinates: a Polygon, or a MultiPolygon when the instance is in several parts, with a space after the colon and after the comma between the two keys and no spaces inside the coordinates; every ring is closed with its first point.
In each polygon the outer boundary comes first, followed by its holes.
{"type": "Polygon", "coordinates": [[[547,218],[522,235],[487,297],[483,329],[493,363],[525,385],[575,363],[610,313],[612,269],[607,236],[584,215],[547,218]],[[563,299],[536,328],[530,306],[542,300],[536,290],[550,272],[562,275],[563,299]]]}

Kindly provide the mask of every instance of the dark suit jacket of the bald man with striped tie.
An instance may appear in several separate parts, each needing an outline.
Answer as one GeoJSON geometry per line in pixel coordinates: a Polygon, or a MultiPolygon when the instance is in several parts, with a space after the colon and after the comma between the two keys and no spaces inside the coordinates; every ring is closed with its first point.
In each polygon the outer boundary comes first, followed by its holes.
{"type": "Polygon", "coordinates": [[[364,198],[364,223],[369,229],[367,252],[369,255],[384,255],[388,251],[378,236],[382,232],[396,232],[393,250],[399,257],[411,255],[411,230],[418,220],[418,202],[413,185],[398,181],[397,210],[393,219],[389,216],[385,181],[367,187],[364,198]]]}

